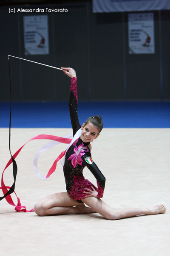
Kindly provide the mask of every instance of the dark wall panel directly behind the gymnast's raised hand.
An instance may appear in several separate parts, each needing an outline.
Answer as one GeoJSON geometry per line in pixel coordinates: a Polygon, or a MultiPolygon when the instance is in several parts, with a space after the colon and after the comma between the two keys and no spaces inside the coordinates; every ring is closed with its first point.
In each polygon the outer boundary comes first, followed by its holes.
{"type": "MultiPolygon", "coordinates": [[[[82,3],[67,8],[68,13],[54,15],[55,63],[76,70],[78,99],[88,100],[87,7],[82,3]]],[[[56,99],[68,100],[70,79],[62,73],[56,73],[55,79],[56,99]]]]}

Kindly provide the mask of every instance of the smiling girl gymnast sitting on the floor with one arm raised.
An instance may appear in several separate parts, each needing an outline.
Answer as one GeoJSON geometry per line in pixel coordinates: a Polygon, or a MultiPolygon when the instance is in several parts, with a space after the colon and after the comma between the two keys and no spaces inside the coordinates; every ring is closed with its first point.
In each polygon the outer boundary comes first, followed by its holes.
{"type": "Polygon", "coordinates": [[[117,220],[136,215],[164,213],[166,207],[162,204],[144,209],[121,208],[114,210],[100,199],[103,196],[105,188],[105,177],[91,159],[90,143],[99,136],[103,128],[102,118],[100,116],[92,116],[81,127],[77,115],[76,72],[72,68],[62,69],[65,74],[71,77],[69,109],[73,134],[76,134],[65,154],[63,169],[67,192],[55,193],[35,204],[34,210],[37,215],[47,216],[99,212],[108,220],[117,220]],[[83,177],[82,171],[85,166],[96,177],[97,188],[83,177]],[[85,207],[85,204],[88,207],[85,207]]]}

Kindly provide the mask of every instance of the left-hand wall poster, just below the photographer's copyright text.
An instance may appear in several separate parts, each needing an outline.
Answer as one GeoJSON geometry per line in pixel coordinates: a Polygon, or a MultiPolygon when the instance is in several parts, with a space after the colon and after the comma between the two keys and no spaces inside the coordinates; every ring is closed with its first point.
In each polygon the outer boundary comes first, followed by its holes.
{"type": "Polygon", "coordinates": [[[49,54],[48,15],[24,16],[25,55],[49,54]]]}

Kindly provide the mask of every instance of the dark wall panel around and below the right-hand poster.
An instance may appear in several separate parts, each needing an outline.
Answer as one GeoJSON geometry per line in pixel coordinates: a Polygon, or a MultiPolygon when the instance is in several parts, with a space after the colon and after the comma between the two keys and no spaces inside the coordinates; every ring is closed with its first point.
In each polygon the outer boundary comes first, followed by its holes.
{"type": "Polygon", "coordinates": [[[161,99],[159,16],[154,12],[155,53],[128,53],[128,14],[126,26],[127,99],[161,99]]]}

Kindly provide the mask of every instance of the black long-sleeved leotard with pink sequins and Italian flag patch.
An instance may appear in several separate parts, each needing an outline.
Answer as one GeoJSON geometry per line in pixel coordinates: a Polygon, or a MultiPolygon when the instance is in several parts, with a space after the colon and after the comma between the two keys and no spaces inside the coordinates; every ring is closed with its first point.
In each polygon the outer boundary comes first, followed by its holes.
{"type": "MultiPolygon", "coordinates": [[[[74,135],[81,128],[77,115],[77,79],[75,77],[71,79],[69,109],[74,135]]],[[[79,139],[77,139],[68,149],[63,169],[66,189],[72,199],[81,202],[81,199],[86,196],[86,194],[83,193],[87,192],[85,188],[91,189],[91,186],[98,192],[98,198],[103,197],[105,177],[102,175],[102,172],[100,172],[96,164],[91,160],[90,142],[84,143],[79,137],[79,139]],[[82,174],[85,166],[88,167],[96,178],[97,188],[89,180],[85,180],[82,174]]]]}

